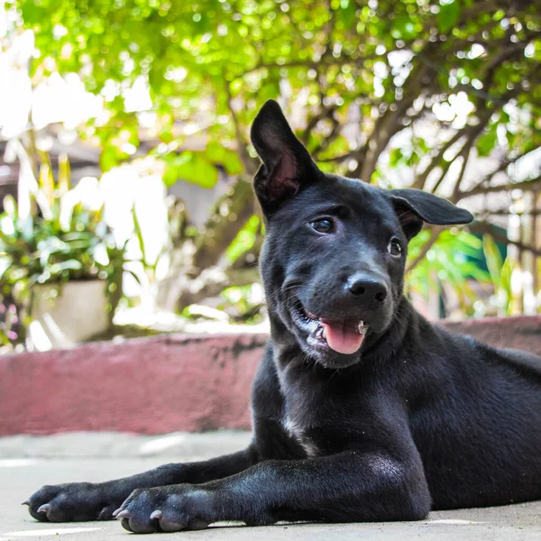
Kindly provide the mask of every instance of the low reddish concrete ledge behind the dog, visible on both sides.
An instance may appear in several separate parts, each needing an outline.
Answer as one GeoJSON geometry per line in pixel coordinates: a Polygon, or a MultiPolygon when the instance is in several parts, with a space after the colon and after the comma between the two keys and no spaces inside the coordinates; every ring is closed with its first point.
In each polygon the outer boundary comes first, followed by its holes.
{"type": "MultiPolygon", "coordinates": [[[[541,355],[541,316],[442,322],[541,355]]],[[[266,335],[159,335],[0,358],[0,436],[249,429],[266,335]]]]}

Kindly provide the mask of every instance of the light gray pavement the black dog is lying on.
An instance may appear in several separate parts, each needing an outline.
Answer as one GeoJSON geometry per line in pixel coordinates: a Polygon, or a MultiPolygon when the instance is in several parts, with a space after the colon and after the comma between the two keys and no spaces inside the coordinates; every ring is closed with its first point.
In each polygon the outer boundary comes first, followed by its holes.
{"type": "MultiPolygon", "coordinates": [[[[127,436],[70,434],[0,438],[0,541],[19,539],[108,541],[133,534],[113,522],[48,524],[33,520],[21,502],[43,484],[105,481],[160,463],[204,459],[240,449],[245,433],[127,436]],[[59,536],[59,537],[57,537],[59,536]]],[[[272,527],[215,525],[203,531],[160,534],[168,539],[279,540],[386,539],[515,541],[541,539],[541,501],[491,509],[438,511],[425,521],[385,524],[279,524],[272,527]]],[[[156,537],[151,537],[155,539],[156,537]]]]}

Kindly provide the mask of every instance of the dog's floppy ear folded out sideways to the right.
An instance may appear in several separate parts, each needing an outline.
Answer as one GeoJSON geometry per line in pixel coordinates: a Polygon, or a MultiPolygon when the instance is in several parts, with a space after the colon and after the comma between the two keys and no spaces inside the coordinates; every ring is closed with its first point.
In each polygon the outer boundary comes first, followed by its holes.
{"type": "Polygon", "coordinates": [[[423,222],[458,225],[469,224],[473,220],[467,210],[420,189],[391,189],[388,194],[408,240],[421,230],[423,222]]]}

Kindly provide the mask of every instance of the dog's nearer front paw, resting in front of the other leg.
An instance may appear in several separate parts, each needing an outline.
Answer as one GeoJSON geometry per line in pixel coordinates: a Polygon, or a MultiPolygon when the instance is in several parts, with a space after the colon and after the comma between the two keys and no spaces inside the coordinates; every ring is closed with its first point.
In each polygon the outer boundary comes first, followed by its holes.
{"type": "Polygon", "coordinates": [[[114,515],[136,534],[203,529],[213,522],[212,493],[191,485],[138,489],[114,515]]]}

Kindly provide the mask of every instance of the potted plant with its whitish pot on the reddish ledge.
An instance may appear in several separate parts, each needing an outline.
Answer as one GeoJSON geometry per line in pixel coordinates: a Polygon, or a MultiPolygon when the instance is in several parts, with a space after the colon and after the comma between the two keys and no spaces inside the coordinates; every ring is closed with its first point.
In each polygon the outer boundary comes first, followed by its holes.
{"type": "Polygon", "coordinates": [[[18,205],[5,197],[0,215],[1,334],[5,344],[41,350],[86,340],[112,324],[125,244],[116,246],[105,224],[97,180],[70,186],[66,157],[58,179],[46,160],[34,183],[18,205]]]}

